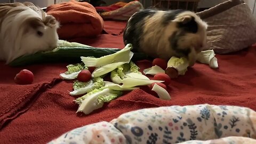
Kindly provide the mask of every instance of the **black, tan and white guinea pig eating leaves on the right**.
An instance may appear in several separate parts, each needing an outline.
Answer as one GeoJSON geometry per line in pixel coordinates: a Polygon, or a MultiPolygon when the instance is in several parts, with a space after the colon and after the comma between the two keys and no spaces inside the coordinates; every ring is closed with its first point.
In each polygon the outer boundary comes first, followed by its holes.
{"type": "Polygon", "coordinates": [[[185,57],[193,66],[206,46],[207,23],[188,10],[144,9],[127,21],[124,44],[151,58],[185,57]]]}

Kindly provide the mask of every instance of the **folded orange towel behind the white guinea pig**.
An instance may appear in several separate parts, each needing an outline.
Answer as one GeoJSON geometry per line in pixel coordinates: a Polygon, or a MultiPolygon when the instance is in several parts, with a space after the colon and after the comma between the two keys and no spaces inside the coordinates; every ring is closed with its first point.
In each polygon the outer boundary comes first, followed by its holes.
{"type": "Polygon", "coordinates": [[[69,2],[53,4],[47,7],[47,14],[60,21],[58,35],[60,39],[97,36],[103,30],[103,19],[95,7],[87,2],[69,2]]]}

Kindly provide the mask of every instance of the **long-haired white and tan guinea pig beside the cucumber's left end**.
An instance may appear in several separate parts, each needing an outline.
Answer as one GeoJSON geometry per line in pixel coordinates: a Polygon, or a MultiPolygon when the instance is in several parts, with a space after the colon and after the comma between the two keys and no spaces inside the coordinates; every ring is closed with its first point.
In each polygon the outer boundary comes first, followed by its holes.
{"type": "Polygon", "coordinates": [[[0,4],[0,60],[10,63],[23,55],[58,46],[59,22],[33,3],[0,4]]]}

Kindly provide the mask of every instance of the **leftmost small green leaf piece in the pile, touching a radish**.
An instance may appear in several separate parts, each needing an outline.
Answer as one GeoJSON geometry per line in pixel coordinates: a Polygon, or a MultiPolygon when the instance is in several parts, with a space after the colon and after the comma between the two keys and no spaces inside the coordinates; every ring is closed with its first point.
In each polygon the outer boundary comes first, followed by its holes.
{"type": "Polygon", "coordinates": [[[67,66],[67,71],[61,73],[60,77],[63,79],[75,79],[81,70],[88,69],[85,67],[84,63],[75,63],[67,66]]]}

